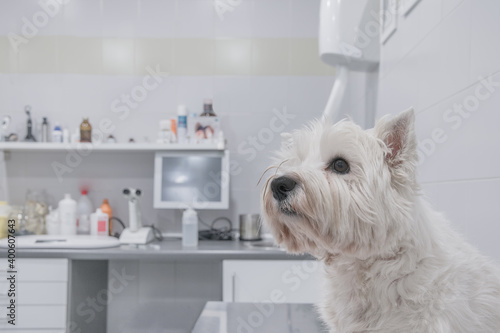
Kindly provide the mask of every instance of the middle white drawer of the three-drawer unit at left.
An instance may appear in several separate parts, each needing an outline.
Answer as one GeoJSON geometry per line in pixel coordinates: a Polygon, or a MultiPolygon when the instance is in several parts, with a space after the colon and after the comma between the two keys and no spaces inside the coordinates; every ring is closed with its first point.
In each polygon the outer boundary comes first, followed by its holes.
{"type": "MultiPolygon", "coordinates": [[[[9,302],[8,288],[7,282],[0,282],[2,305],[9,302]]],[[[66,305],[67,296],[67,282],[19,282],[16,285],[16,303],[19,305],[66,305]]]]}

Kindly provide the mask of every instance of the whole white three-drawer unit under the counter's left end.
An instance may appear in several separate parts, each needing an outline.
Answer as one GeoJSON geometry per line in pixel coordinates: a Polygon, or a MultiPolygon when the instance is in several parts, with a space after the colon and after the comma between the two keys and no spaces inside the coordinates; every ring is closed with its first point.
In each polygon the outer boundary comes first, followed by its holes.
{"type": "Polygon", "coordinates": [[[64,332],[68,304],[67,259],[16,259],[16,325],[8,324],[6,307],[10,283],[7,259],[0,258],[0,331],[64,332]]]}

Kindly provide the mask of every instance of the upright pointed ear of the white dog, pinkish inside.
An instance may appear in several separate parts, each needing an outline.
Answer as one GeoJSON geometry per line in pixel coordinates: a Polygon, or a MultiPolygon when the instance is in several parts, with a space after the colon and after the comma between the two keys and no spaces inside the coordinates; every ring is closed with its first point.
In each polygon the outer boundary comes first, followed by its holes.
{"type": "Polygon", "coordinates": [[[393,118],[380,119],[375,124],[375,133],[388,148],[385,159],[389,167],[399,176],[414,176],[418,155],[413,108],[393,118]]]}

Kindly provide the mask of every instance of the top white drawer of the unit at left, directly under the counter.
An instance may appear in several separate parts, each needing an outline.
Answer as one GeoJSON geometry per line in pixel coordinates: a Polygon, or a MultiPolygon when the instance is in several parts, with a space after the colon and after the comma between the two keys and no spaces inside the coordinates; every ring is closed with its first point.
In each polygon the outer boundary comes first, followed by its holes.
{"type": "MultiPolygon", "coordinates": [[[[16,259],[17,282],[68,281],[68,259],[16,259]]],[[[0,281],[7,276],[7,258],[0,258],[0,281]]]]}

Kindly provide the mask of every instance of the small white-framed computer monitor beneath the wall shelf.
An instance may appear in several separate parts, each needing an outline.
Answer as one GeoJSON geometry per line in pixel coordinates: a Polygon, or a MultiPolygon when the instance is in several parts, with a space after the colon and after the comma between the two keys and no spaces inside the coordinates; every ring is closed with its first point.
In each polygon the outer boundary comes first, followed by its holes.
{"type": "Polygon", "coordinates": [[[229,151],[155,155],[154,208],[228,209],[229,151]]]}

